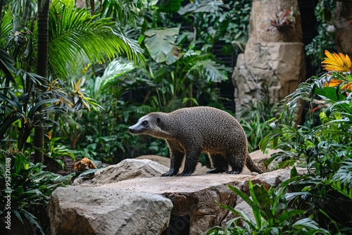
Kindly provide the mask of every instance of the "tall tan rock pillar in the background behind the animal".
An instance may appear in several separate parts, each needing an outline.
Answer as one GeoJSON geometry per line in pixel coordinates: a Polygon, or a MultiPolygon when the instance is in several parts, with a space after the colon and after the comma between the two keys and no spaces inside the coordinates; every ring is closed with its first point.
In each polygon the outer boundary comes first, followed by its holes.
{"type": "Polygon", "coordinates": [[[306,77],[296,0],[254,0],[249,28],[249,41],[232,75],[238,115],[242,106],[260,99],[265,84],[269,85],[271,102],[277,103],[306,77]],[[292,10],[287,21],[282,21],[284,13],[292,10]]]}

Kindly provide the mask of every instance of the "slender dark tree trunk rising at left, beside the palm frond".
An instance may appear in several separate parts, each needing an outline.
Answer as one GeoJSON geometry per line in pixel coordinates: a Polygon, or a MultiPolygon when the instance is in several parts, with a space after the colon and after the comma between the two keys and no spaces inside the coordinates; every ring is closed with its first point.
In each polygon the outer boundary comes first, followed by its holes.
{"type": "MultiPolygon", "coordinates": [[[[38,0],[38,61],[37,75],[43,77],[40,82],[46,82],[46,72],[48,64],[48,48],[49,48],[49,2],[50,0],[38,0]]],[[[42,91],[41,84],[37,84],[38,93],[42,91]]],[[[39,97],[38,97],[39,98],[39,97]]],[[[40,99],[38,99],[40,101],[40,99]]],[[[39,109],[42,110],[41,108],[39,109]]],[[[38,120],[37,120],[38,121],[38,120]]],[[[38,122],[38,126],[34,128],[34,163],[44,161],[44,127],[38,122]]]]}

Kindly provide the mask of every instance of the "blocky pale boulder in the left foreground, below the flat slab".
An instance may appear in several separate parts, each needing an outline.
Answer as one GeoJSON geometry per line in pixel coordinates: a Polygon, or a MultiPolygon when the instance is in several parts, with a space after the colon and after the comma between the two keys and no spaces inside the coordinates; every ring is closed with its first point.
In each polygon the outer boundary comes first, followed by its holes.
{"type": "Polygon", "coordinates": [[[155,193],[69,186],[51,195],[51,234],[161,234],[172,203],[155,193]]]}

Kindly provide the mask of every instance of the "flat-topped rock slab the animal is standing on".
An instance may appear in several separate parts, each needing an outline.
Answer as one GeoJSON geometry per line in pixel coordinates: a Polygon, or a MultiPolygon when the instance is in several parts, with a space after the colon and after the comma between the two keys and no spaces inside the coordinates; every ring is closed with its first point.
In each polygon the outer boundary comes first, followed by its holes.
{"type": "MultiPolygon", "coordinates": [[[[299,170],[298,172],[302,172],[299,170]]],[[[290,170],[278,170],[264,174],[205,174],[191,177],[154,177],[128,179],[113,184],[99,186],[101,189],[123,189],[133,192],[157,193],[172,201],[172,215],[168,232],[189,227],[187,234],[204,234],[210,227],[221,224],[228,211],[220,208],[216,202],[234,206],[237,205],[236,194],[227,185],[236,186],[241,191],[249,193],[248,179],[253,184],[264,184],[267,188],[278,186],[289,179],[290,170]],[[187,225],[187,223],[189,223],[187,225]]],[[[184,231],[182,230],[182,233],[184,231]]]]}

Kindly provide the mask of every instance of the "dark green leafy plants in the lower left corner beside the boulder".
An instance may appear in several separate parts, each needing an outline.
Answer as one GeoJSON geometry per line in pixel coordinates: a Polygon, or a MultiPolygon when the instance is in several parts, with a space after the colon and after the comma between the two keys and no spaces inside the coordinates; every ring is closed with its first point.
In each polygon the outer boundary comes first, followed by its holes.
{"type": "Polygon", "coordinates": [[[10,210],[13,218],[16,217],[20,222],[28,220],[40,234],[44,234],[44,229],[38,215],[49,203],[51,193],[58,186],[70,184],[73,177],[72,174],[62,177],[46,172],[44,167],[39,163],[31,163],[28,154],[1,151],[0,217],[5,217],[10,210]],[[8,205],[5,196],[11,196],[11,205],[8,205]]]}

